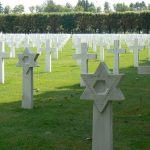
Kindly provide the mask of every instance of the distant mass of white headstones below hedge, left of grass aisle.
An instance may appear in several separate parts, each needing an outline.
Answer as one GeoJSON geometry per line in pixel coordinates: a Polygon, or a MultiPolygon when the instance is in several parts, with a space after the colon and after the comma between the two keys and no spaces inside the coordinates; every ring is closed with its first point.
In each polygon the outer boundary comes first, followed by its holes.
{"type": "Polygon", "coordinates": [[[55,58],[58,59],[58,51],[62,51],[62,47],[69,34],[1,34],[1,41],[5,41],[10,47],[12,56],[15,57],[15,48],[19,47],[35,47],[37,53],[41,53],[42,46],[46,45],[47,39],[50,39],[50,46],[55,47],[55,58]]]}

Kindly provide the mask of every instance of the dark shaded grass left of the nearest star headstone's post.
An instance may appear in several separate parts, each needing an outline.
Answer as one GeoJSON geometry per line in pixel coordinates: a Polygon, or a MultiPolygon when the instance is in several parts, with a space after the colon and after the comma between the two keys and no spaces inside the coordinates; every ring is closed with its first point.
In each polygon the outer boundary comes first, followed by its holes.
{"type": "Polygon", "coordinates": [[[0,149],[90,150],[92,105],[81,92],[79,85],[39,91],[32,110],[0,104],[0,149]]]}

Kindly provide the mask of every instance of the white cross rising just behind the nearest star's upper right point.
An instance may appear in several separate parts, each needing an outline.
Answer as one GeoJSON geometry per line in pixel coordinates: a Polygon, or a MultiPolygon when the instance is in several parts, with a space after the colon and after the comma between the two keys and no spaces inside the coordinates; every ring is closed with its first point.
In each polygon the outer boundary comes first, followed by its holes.
{"type": "Polygon", "coordinates": [[[119,74],[119,55],[125,53],[125,49],[120,49],[119,40],[114,41],[114,49],[108,49],[108,53],[114,53],[114,74],[119,74]]]}

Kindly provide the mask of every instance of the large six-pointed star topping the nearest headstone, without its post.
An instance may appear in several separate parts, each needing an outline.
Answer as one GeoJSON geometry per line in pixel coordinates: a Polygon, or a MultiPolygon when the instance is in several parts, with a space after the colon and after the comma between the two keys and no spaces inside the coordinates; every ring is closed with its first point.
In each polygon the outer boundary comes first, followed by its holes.
{"type": "Polygon", "coordinates": [[[124,95],[118,87],[122,75],[110,74],[104,62],[101,62],[94,74],[81,74],[86,89],[81,99],[94,100],[98,110],[103,112],[109,101],[124,100],[124,95]]]}

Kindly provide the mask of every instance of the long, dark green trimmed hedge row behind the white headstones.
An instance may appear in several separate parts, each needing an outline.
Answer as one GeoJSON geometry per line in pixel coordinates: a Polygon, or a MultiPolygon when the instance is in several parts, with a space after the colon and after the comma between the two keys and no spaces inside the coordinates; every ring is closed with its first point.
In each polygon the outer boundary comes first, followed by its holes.
{"type": "Polygon", "coordinates": [[[2,14],[0,31],[4,33],[149,33],[150,11],[110,14],[2,14]]]}

